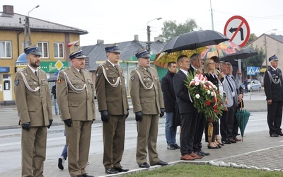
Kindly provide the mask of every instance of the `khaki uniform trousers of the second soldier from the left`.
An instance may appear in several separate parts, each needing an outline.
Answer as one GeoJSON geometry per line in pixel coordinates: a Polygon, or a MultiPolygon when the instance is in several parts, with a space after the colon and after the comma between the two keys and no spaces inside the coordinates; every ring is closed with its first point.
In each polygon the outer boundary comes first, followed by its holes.
{"type": "Polygon", "coordinates": [[[92,121],[73,120],[71,127],[65,125],[68,153],[68,169],[71,176],[86,173],[91,144],[92,121]]]}

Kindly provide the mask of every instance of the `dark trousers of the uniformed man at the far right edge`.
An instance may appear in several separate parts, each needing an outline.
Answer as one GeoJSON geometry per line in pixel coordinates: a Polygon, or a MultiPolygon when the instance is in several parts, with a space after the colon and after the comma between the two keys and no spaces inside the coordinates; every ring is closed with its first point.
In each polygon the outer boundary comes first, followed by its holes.
{"type": "Polygon", "coordinates": [[[282,122],[282,101],[272,101],[267,104],[267,124],[270,128],[270,135],[281,132],[282,122]]]}

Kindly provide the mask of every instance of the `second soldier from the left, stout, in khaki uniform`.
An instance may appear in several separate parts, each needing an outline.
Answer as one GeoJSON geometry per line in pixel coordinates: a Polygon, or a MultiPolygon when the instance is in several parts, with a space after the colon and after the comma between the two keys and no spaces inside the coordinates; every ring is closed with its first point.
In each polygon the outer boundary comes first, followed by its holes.
{"type": "Polygon", "coordinates": [[[91,177],[86,173],[91,144],[91,124],[96,120],[94,84],[84,69],[86,55],[81,49],[69,55],[71,67],[59,72],[56,93],[61,118],[65,123],[68,169],[71,176],[91,177]]]}

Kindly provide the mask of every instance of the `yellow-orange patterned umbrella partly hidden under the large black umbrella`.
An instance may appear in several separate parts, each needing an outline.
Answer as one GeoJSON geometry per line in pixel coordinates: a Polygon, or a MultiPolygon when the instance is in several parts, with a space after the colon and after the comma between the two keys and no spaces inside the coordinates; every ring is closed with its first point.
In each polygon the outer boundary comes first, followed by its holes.
{"type": "Polygon", "coordinates": [[[180,55],[187,55],[187,57],[190,57],[195,52],[202,53],[202,51],[204,51],[205,49],[207,49],[207,47],[200,47],[197,48],[197,50],[181,50],[172,53],[161,52],[156,55],[154,59],[154,64],[164,69],[167,67],[168,62],[176,62],[177,58],[180,55]]]}

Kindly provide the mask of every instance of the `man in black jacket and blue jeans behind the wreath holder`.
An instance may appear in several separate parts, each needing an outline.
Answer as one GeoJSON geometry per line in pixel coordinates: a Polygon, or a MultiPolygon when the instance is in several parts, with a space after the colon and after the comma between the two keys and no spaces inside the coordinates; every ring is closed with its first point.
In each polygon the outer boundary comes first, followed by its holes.
{"type": "Polygon", "coordinates": [[[177,64],[175,62],[168,62],[168,72],[161,79],[161,89],[163,91],[163,100],[166,112],[165,123],[165,137],[167,142],[167,149],[180,149],[176,144],[176,130],[175,126],[175,102],[176,97],[173,87],[173,76],[177,72],[177,64]]]}

